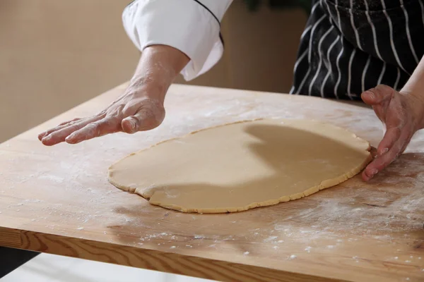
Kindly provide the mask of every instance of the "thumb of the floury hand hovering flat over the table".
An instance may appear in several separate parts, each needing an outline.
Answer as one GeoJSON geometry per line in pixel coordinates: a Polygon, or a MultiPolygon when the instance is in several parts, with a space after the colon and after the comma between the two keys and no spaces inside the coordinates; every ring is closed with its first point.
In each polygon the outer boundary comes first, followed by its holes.
{"type": "Polygon", "coordinates": [[[157,128],[165,118],[163,106],[146,107],[143,106],[133,116],[128,116],[122,120],[122,130],[124,133],[136,133],[138,131],[151,130],[157,128]]]}

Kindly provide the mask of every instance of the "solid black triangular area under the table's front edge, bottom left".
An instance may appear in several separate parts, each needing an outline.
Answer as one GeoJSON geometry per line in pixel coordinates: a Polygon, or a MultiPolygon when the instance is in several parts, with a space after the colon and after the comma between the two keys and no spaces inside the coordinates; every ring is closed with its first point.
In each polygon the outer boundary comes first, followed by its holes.
{"type": "Polygon", "coordinates": [[[0,278],[11,273],[25,262],[33,259],[39,252],[0,247],[0,278]]]}

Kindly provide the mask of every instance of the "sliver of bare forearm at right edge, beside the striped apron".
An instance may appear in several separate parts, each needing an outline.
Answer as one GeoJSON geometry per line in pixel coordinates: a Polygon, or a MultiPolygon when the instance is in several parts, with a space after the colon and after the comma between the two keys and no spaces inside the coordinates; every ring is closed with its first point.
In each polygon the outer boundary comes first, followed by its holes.
{"type": "Polygon", "coordinates": [[[415,71],[402,88],[401,93],[411,96],[414,100],[416,120],[419,128],[424,128],[424,56],[415,71]]]}

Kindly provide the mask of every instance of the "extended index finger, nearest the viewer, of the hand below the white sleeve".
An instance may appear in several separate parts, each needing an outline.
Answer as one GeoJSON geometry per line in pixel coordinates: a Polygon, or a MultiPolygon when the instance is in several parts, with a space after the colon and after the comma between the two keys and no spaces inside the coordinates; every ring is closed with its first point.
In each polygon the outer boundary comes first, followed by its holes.
{"type": "Polygon", "coordinates": [[[89,123],[66,137],[65,141],[69,144],[77,144],[109,133],[116,133],[121,128],[119,121],[119,118],[103,118],[100,121],[89,123]]]}

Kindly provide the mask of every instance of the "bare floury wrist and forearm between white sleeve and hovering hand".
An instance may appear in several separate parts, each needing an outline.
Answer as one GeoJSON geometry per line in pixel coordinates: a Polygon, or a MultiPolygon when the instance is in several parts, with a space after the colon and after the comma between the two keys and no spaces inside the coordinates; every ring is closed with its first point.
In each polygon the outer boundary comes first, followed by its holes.
{"type": "Polygon", "coordinates": [[[129,92],[165,99],[168,87],[189,63],[182,51],[166,45],[152,45],[143,50],[139,64],[129,83],[129,92]]]}

